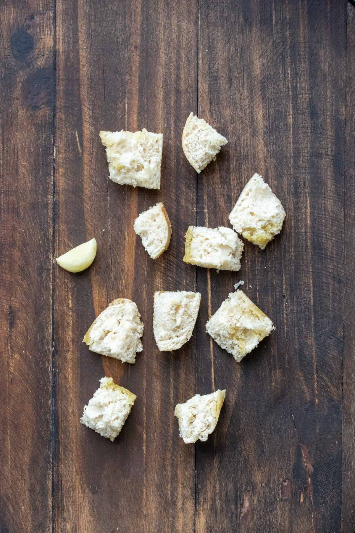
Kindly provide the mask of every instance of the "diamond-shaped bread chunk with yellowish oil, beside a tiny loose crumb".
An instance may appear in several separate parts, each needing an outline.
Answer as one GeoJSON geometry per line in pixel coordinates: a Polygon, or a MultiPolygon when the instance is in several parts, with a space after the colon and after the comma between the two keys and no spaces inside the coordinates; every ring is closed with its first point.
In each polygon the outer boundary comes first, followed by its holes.
{"type": "Polygon", "coordinates": [[[229,294],[206,324],[206,332],[236,361],[241,361],[273,329],[273,322],[240,289],[229,294]]]}

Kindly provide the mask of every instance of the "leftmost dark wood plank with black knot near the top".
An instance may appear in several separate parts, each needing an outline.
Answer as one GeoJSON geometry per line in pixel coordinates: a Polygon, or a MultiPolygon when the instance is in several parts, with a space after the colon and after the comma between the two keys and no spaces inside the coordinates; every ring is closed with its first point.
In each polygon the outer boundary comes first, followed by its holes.
{"type": "Polygon", "coordinates": [[[0,3],[0,530],[52,531],[53,5],[0,3]]]}

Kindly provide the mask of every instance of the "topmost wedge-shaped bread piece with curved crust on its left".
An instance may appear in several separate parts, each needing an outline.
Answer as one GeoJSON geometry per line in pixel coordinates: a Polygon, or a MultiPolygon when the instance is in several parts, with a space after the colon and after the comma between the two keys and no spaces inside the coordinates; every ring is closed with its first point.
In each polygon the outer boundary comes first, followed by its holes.
{"type": "Polygon", "coordinates": [[[212,128],[203,118],[197,118],[192,112],[186,120],[183,131],[184,154],[197,173],[204,169],[216,155],[227,139],[212,128]]]}

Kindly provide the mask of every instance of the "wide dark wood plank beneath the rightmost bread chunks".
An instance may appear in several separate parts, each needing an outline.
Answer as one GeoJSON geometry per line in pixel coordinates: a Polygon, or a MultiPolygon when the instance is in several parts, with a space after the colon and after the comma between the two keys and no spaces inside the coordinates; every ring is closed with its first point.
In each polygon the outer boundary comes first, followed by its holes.
{"type": "Polygon", "coordinates": [[[287,217],[240,273],[197,271],[196,389],[227,396],[196,446],[196,531],[339,531],[346,3],[200,0],[199,20],[199,115],[229,144],[198,222],[228,226],[254,172],[287,217]],[[240,365],[204,334],[239,279],[276,325],[240,365]]]}

